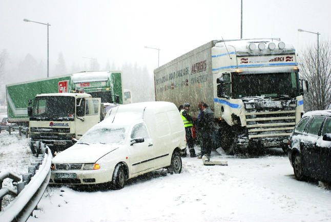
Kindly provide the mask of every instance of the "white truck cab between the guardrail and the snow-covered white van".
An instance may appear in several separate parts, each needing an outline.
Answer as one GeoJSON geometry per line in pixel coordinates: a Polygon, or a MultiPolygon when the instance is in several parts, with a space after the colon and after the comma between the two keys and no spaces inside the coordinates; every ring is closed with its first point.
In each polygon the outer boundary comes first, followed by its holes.
{"type": "Polygon", "coordinates": [[[63,151],[103,117],[100,98],[86,93],[39,94],[28,107],[28,115],[30,148],[37,153],[40,142],[52,152],[63,151]]]}

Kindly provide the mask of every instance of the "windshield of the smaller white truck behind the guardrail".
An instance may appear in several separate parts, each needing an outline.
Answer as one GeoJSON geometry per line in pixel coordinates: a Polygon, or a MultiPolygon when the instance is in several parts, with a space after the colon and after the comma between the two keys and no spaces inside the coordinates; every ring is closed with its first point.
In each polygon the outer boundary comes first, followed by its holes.
{"type": "Polygon", "coordinates": [[[33,103],[33,117],[74,118],[75,98],[65,96],[36,97],[33,103]]]}

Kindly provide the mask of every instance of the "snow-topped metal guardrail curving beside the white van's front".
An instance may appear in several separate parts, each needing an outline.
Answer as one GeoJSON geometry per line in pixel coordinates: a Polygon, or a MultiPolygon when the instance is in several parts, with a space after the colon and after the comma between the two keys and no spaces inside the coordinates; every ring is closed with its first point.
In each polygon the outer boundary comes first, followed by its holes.
{"type": "MultiPolygon", "coordinates": [[[[5,211],[0,212],[0,221],[26,221],[37,207],[49,183],[51,161],[53,158],[49,147],[43,148],[42,152],[45,154],[39,155],[36,162],[28,167],[28,173],[22,175],[23,182],[17,184],[18,195],[14,201],[5,208],[5,211]]],[[[3,173],[0,175],[2,174],[3,173]]],[[[19,179],[19,177],[17,178],[16,176],[12,177],[14,177],[15,180],[19,179]]],[[[7,189],[8,188],[2,188],[0,195],[1,192],[12,192],[12,190],[7,191],[7,189]],[[3,189],[5,190],[2,191],[3,189]]],[[[13,194],[15,193],[16,191],[13,191],[13,194]]]]}

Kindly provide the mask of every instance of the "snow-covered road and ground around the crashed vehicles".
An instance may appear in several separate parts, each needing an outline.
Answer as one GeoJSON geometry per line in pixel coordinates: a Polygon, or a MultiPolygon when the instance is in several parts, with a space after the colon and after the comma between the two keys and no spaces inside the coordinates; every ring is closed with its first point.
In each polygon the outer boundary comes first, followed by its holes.
{"type": "MultiPolygon", "coordinates": [[[[26,172],[27,139],[2,133],[0,141],[0,169],[11,165],[17,173],[26,172]]],[[[48,187],[28,221],[331,220],[330,190],[296,181],[280,152],[238,159],[213,151],[212,159],[229,165],[204,166],[199,159],[183,158],[180,174],[157,170],[121,190],[48,187]]]]}

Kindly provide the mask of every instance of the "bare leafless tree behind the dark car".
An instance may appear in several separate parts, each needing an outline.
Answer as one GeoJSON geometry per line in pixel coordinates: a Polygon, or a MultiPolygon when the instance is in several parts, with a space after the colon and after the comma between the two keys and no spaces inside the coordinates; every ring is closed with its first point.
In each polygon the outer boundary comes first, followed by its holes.
{"type": "Polygon", "coordinates": [[[316,47],[304,50],[301,77],[308,80],[309,93],[304,95],[305,110],[328,109],[331,105],[331,46],[324,40],[316,47]],[[319,59],[318,56],[319,55],[319,59]]]}

